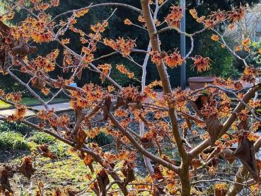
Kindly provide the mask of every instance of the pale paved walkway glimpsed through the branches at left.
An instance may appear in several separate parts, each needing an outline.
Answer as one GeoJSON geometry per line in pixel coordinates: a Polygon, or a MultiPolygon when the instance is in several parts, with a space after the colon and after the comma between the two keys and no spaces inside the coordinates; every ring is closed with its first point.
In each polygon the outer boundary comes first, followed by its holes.
{"type": "MultiPolygon", "coordinates": [[[[54,108],[54,112],[62,112],[62,111],[66,111],[66,110],[71,110],[71,106],[68,102],[50,104],[49,107],[50,107],[50,109],[54,108]]],[[[42,106],[42,105],[35,105],[30,108],[34,108],[35,110],[45,109],[44,106],[42,106]]],[[[13,113],[15,113],[15,110],[16,109],[0,110],[0,115],[4,115],[4,116],[12,115],[13,113]]],[[[33,113],[33,111],[30,111],[30,110],[26,111],[26,114],[25,114],[26,117],[29,117],[32,115],[35,115],[35,113],[33,113]]]]}

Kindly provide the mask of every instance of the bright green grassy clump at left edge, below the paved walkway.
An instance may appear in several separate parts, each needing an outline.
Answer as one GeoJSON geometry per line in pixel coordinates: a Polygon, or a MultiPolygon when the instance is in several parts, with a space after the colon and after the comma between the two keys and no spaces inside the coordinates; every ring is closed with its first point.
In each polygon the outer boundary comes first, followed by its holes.
{"type": "Polygon", "coordinates": [[[0,132],[0,149],[3,150],[25,150],[29,149],[28,142],[21,133],[0,132]]]}

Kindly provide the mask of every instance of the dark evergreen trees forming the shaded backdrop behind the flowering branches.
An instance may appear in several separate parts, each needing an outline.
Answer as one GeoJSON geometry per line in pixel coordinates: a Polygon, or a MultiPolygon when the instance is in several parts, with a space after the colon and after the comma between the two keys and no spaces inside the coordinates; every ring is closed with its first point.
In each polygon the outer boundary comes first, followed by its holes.
{"type": "MultiPolygon", "coordinates": [[[[28,5],[30,6],[30,1],[28,1],[28,5]]],[[[95,0],[95,1],[89,1],[89,3],[94,3],[94,4],[100,4],[100,3],[105,3],[108,1],[104,1],[104,0],[95,0]]],[[[139,1],[129,1],[129,0],[123,0],[123,1],[116,1],[116,2],[120,2],[120,3],[126,3],[126,4],[130,4],[132,6],[136,6],[136,7],[140,7],[139,1]]],[[[193,32],[193,30],[199,30],[201,27],[200,25],[198,25],[195,20],[190,17],[190,14],[188,13],[188,10],[190,8],[197,8],[197,11],[199,12],[200,15],[208,15],[209,13],[211,13],[211,11],[216,11],[216,10],[231,10],[232,8],[238,7],[238,6],[245,6],[246,4],[249,4],[250,6],[253,6],[255,4],[257,4],[259,1],[257,0],[249,0],[249,1],[187,1],[187,23],[190,24],[187,26],[187,32],[193,32]]],[[[76,1],[66,1],[66,0],[62,0],[61,1],[61,6],[59,6],[59,8],[50,8],[50,14],[55,16],[59,13],[62,13],[64,11],[66,11],[67,8],[81,8],[83,6],[86,5],[86,3],[88,3],[88,1],[81,1],[81,0],[76,0],[76,1]]],[[[169,1],[167,3],[167,6],[170,6],[170,4],[178,4],[179,1],[169,1]]],[[[6,5],[10,5],[8,4],[8,1],[2,1],[1,4],[6,4],[6,5]]],[[[81,20],[81,18],[79,19],[80,23],[77,24],[79,25],[79,28],[82,28],[83,31],[85,31],[86,33],[88,33],[90,31],[90,29],[86,29],[84,27],[88,27],[91,24],[95,23],[95,21],[97,20],[102,20],[102,18],[105,18],[108,16],[108,11],[110,10],[110,8],[104,8],[104,7],[98,7],[98,8],[93,8],[93,10],[91,10],[90,12],[90,17],[88,18],[88,20],[81,20]]],[[[164,15],[162,15],[161,13],[165,13],[167,11],[166,8],[162,8],[162,11],[160,11],[158,13],[158,18],[163,21],[164,20],[164,15]]],[[[28,15],[28,13],[26,11],[20,10],[18,11],[18,13],[16,14],[13,23],[18,23],[18,21],[21,19],[21,17],[26,17],[28,15]]],[[[130,36],[134,36],[135,38],[140,38],[138,40],[139,44],[141,44],[141,47],[143,47],[143,49],[146,49],[146,43],[143,42],[143,40],[146,39],[146,33],[144,33],[143,30],[141,29],[137,29],[135,32],[132,31],[132,27],[126,26],[124,25],[124,23],[122,21],[124,21],[125,18],[129,18],[130,20],[137,22],[137,17],[138,17],[138,13],[136,14],[131,14],[127,11],[126,8],[122,8],[119,7],[117,13],[115,14],[115,16],[113,16],[111,18],[111,23],[110,23],[110,27],[108,27],[108,29],[110,29],[109,31],[109,37],[110,38],[117,38],[119,35],[124,35],[125,37],[130,37],[130,36]],[[130,35],[130,33],[132,33],[130,35]]],[[[74,50],[81,50],[80,47],[78,47],[80,45],[79,43],[79,39],[75,36],[70,36],[71,41],[76,42],[76,45],[74,45],[74,50]]],[[[175,32],[171,32],[171,33],[163,33],[161,35],[161,38],[163,40],[167,40],[167,38],[173,38],[173,42],[163,42],[163,46],[166,48],[166,50],[168,51],[169,49],[173,48],[173,47],[179,47],[180,46],[180,41],[178,39],[179,35],[178,33],[175,32]]],[[[209,38],[211,37],[211,32],[204,32],[202,33],[202,35],[198,35],[195,37],[195,54],[206,54],[208,51],[207,48],[209,47],[204,47],[205,45],[216,45],[215,42],[211,41],[209,38]]],[[[216,45],[217,46],[217,45],[216,45]]],[[[216,76],[237,76],[237,70],[233,67],[233,56],[226,50],[221,50],[219,47],[213,46],[212,50],[214,50],[214,53],[219,52],[222,57],[211,57],[212,60],[212,68],[205,72],[204,74],[206,75],[216,75],[216,76]]],[[[52,47],[56,47],[56,45],[52,46],[52,47]]],[[[187,48],[190,47],[190,39],[187,39],[187,48]]],[[[47,52],[47,50],[45,49],[41,49],[42,54],[45,54],[47,52]]],[[[108,52],[108,48],[101,46],[100,51],[98,54],[106,54],[108,52]]],[[[139,56],[135,56],[134,55],[135,60],[137,60],[137,62],[141,63],[142,59],[139,58],[139,56]]],[[[115,58],[110,58],[108,57],[108,59],[110,59],[110,62],[112,64],[117,64],[117,62],[115,62],[115,58]]],[[[62,59],[61,59],[62,60],[62,59]]],[[[132,71],[135,72],[135,69],[132,68],[132,66],[129,64],[129,62],[127,61],[123,61],[122,63],[126,64],[126,66],[131,69],[132,71]]],[[[191,61],[188,61],[188,64],[191,64],[191,61]]],[[[151,64],[151,62],[149,62],[149,64],[151,64]]],[[[159,79],[159,76],[157,74],[157,71],[155,68],[153,68],[153,66],[150,66],[150,69],[147,70],[149,73],[148,76],[148,81],[153,81],[155,79],[159,79]]],[[[196,73],[195,71],[192,71],[191,69],[187,69],[187,77],[189,76],[197,76],[197,75],[201,75],[200,73],[196,73]]],[[[57,69],[57,71],[55,72],[55,74],[63,74],[61,69],[57,69]]],[[[117,74],[114,71],[112,71],[112,74],[117,74]]],[[[139,73],[136,73],[139,74],[139,73]]],[[[63,74],[64,75],[64,74],[63,74]]],[[[98,78],[95,76],[95,74],[91,73],[91,71],[84,71],[84,75],[86,77],[84,77],[84,79],[86,79],[86,81],[93,81],[93,82],[98,82],[98,78]]],[[[178,86],[179,85],[179,69],[176,70],[170,70],[170,76],[175,76],[173,77],[174,79],[172,81],[170,81],[170,83],[174,86],[178,86]]],[[[82,83],[85,83],[86,81],[84,81],[84,79],[82,81],[78,81],[79,85],[81,86],[82,83]]],[[[7,80],[8,82],[10,82],[9,80],[7,80]]],[[[120,82],[123,86],[126,85],[127,83],[124,83],[126,81],[126,77],[122,76],[119,79],[117,79],[117,82],[120,82]]],[[[136,81],[133,81],[133,83],[136,83],[136,81]]],[[[107,83],[106,83],[107,84],[107,83]]],[[[136,83],[137,84],[137,83],[136,83]]],[[[4,83],[3,83],[4,85],[4,83]]],[[[17,87],[17,85],[13,85],[13,87],[17,87]]]]}

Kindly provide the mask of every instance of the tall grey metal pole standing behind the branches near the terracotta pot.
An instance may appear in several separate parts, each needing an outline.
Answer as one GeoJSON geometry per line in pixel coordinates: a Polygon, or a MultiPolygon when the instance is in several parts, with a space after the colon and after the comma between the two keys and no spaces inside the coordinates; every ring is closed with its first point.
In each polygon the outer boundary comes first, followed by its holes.
{"type": "MultiPolygon", "coordinates": [[[[186,1],[180,0],[180,7],[183,10],[183,17],[180,21],[180,30],[186,31],[186,1]]],[[[180,34],[180,54],[182,57],[186,56],[186,37],[185,34],[180,34]]],[[[186,63],[183,62],[180,67],[180,87],[184,90],[186,88],[186,63]]]]}

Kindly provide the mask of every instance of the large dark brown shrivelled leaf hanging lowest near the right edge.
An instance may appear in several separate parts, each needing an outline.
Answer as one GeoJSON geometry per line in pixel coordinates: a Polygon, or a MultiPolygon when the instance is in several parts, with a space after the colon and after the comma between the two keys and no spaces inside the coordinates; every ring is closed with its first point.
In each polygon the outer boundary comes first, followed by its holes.
{"type": "Polygon", "coordinates": [[[245,135],[238,138],[238,148],[233,154],[240,159],[243,166],[247,168],[252,177],[257,180],[259,178],[257,171],[257,161],[255,159],[255,147],[245,135]]]}

